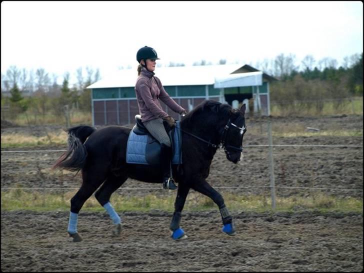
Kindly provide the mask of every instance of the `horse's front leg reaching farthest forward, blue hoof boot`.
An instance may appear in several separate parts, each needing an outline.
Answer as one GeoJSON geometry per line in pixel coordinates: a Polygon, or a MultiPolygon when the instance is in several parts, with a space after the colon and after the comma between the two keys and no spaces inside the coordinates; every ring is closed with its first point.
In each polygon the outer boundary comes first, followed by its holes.
{"type": "Polygon", "coordinates": [[[232,223],[232,217],[229,211],[226,208],[225,202],[223,200],[222,195],[217,192],[209,183],[206,182],[204,179],[200,179],[196,181],[192,188],[208,197],[210,197],[215,204],[217,204],[221,218],[222,218],[222,231],[228,235],[235,235],[235,227],[232,223]]]}

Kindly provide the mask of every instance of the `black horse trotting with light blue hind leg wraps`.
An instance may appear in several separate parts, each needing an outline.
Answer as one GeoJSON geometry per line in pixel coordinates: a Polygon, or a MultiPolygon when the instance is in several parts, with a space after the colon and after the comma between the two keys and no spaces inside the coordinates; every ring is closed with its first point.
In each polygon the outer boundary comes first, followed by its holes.
{"type": "MultiPolygon", "coordinates": [[[[213,200],[222,218],[222,231],[235,235],[236,229],[222,195],[207,181],[210,165],[218,148],[224,148],[227,160],[237,163],[242,152],[242,139],[246,131],[245,104],[234,109],[226,103],[204,100],[183,116],[179,122],[182,141],[182,163],[172,164],[174,180],[178,183],[174,212],[169,225],[171,238],[184,239],[180,227],[181,211],[189,189],[213,200]]],[[[130,127],[108,125],[96,129],[79,125],[66,129],[67,150],[56,160],[53,168],[81,170],[82,183],[70,200],[67,232],[74,242],[82,238],[77,232],[78,212],[84,202],[94,196],[108,212],[114,227],[113,236],[121,234],[121,219],[110,203],[111,194],[128,177],[152,183],[161,183],[161,168],[148,164],[126,163],[126,148],[130,127]],[[101,185],[102,184],[102,185],[101,185]]]]}

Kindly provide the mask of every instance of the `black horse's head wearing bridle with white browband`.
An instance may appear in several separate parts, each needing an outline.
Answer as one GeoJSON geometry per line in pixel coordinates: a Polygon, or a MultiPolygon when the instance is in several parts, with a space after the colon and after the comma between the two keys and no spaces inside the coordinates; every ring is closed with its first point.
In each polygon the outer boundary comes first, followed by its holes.
{"type": "Polygon", "coordinates": [[[242,152],[242,138],[246,131],[245,125],[245,104],[239,110],[230,109],[229,118],[223,128],[221,143],[224,147],[227,160],[237,163],[242,152]]]}

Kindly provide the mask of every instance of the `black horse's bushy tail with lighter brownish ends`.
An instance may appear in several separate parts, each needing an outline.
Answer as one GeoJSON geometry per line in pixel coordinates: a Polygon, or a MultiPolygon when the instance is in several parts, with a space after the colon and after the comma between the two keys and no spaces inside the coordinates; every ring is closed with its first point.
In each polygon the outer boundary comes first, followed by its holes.
{"type": "Polygon", "coordinates": [[[88,126],[81,125],[67,129],[68,132],[68,147],[55,162],[53,168],[64,168],[71,171],[80,170],[83,168],[87,150],[83,145],[86,138],[95,131],[96,129],[88,126]]]}

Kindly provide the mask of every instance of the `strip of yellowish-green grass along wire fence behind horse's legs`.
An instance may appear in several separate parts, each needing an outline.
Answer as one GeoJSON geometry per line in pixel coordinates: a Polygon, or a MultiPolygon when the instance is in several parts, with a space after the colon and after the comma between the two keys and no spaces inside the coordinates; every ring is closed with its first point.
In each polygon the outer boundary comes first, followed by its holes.
{"type": "MultiPolygon", "coordinates": [[[[61,210],[68,211],[70,198],[75,191],[64,193],[52,193],[47,191],[28,192],[21,187],[8,191],[1,191],[1,210],[34,210],[50,211],[61,210]]],[[[223,193],[226,206],[230,211],[271,211],[270,198],[264,195],[242,196],[234,193],[223,193]]],[[[113,194],[111,203],[117,211],[148,211],[150,209],[161,209],[172,212],[174,210],[175,194],[167,196],[156,196],[147,194],[145,196],[127,196],[113,194]]],[[[276,198],[276,211],[297,211],[297,210],[315,210],[315,211],[341,211],[341,212],[359,212],[363,209],[362,198],[354,197],[337,197],[317,192],[309,197],[289,196],[276,198]]],[[[199,211],[206,209],[217,209],[213,201],[199,194],[191,192],[187,195],[185,211],[199,211]]],[[[84,211],[103,211],[95,197],[92,195],[83,205],[84,211]]]]}

